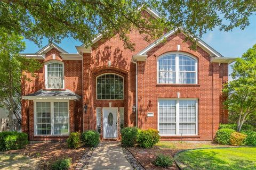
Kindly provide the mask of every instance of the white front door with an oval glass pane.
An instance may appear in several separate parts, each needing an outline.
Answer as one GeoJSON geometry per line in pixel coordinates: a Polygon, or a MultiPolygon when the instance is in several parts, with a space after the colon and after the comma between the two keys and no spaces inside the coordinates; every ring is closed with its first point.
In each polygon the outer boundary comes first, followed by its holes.
{"type": "Polygon", "coordinates": [[[103,138],[117,138],[118,108],[103,108],[103,138]]]}

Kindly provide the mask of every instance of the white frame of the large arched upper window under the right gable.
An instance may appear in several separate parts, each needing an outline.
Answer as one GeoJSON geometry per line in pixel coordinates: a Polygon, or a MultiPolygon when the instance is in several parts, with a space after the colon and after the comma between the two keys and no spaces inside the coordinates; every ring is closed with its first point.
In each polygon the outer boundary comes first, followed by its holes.
{"type": "MultiPolygon", "coordinates": [[[[197,58],[193,55],[190,55],[188,53],[183,53],[183,52],[169,52],[169,53],[165,53],[157,58],[157,84],[188,84],[188,83],[179,83],[179,72],[180,72],[179,71],[179,54],[191,57],[195,60],[196,77],[195,77],[195,83],[193,83],[193,84],[197,84],[197,77],[198,77],[198,75],[197,75],[197,67],[198,67],[197,58]],[[175,54],[175,71],[173,71],[173,72],[175,72],[175,83],[159,83],[159,60],[167,55],[173,55],[173,54],[175,54]]],[[[181,71],[181,72],[185,72],[185,71],[181,71]]],[[[188,72],[190,72],[190,71],[188,71],[188,72]]]]}

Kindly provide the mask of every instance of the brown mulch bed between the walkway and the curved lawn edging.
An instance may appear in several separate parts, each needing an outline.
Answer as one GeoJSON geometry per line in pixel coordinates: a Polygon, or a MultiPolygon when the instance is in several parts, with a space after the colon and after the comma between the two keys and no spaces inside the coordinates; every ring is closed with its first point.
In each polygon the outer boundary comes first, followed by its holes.
{"type": "Polygon", "coordinates": [[[161,149],[157,146],[153,148],[140,148],[140,147],[133,147],[133,148],[126,148],[128,149],[134,157],[142,164],[143,167],[146,169],[175,169],[178,170],[178,166],[173,161],[171,167],[162,168],[157,167],[153,164],[154,160],[156,159],[157,155],[164,154],[173,157],[180,149],[161,149]]]}

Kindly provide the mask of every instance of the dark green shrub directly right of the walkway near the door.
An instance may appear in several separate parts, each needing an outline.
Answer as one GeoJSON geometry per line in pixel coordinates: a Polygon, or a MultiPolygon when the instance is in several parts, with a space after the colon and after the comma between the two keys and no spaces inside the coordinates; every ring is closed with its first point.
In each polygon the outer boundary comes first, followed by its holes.
{"type": "Polygon", "coordinates": [[[122,140],[121,143],[125,147],[133,147],[137,140],[138,128],[127,127],[121,130],[122,140]]]}

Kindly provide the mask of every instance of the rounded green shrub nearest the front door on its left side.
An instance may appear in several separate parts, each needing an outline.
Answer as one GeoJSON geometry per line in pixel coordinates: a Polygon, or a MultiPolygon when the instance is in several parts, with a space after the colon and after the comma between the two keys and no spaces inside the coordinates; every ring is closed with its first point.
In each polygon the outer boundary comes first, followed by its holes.
{"type": "Polygon", "coordinates": [[[100,133],[92,130],[83,132],[82,141],[85,145],[96,147],[100,142],[100,133]]]}

